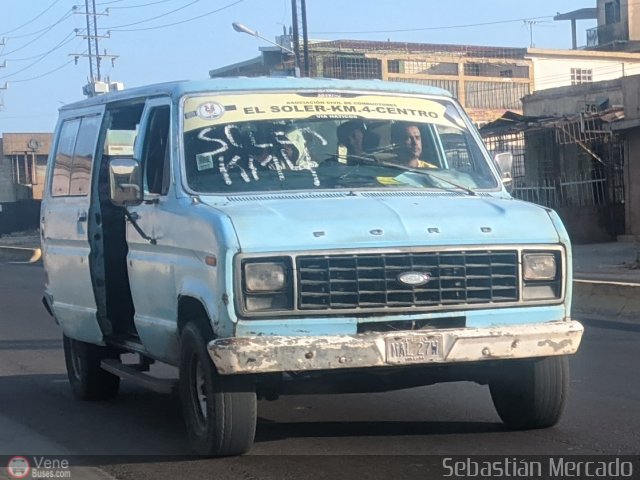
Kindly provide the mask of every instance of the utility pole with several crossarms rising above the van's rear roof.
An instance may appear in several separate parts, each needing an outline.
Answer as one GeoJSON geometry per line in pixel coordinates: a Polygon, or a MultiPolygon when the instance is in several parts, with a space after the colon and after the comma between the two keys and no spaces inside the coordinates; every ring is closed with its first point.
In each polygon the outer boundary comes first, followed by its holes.
{"type": "Polygon", "coordinates": [[[109,15],[109,13],[97,13],[96,0],[84,0],[84,5],[84,11],[76,11],[82,8],[78,5],[75,5],[73,10],[74,13],[86,16],[87,31],[82,35],[82,38],[87,40],[87,51],[89,53],[72,53],[70,55],[75,57],[76,64],[80,57],[86,57],[89,59],[89,83],[83,87],[82,91],[85,95],[92,97],[100,93],[106,93],[112,89],[119,90],[122,87],[121,84],[117,82],[110,84],[108,79],[102,78],[102,73],[100,72],[103,59],[110,59],[111,65],[113,65],[118,58],[117,55],[108,55],[106,50],[104,53],[100,53],[98,45],[99,39],[109,38],[109,35],[98,35],[98,17],[109,15]]]}

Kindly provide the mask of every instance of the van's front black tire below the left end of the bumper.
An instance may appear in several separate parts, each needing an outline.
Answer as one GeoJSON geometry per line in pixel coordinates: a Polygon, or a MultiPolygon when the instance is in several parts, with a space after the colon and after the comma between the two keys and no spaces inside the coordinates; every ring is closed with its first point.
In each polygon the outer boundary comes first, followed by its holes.
{"type": "Polygon", "coordinates": [[[198,323],[180,337],[180,401],[193,449],[200,455],[240,455],[253,445],[257,422],[255,385],[243,376],[218,375],[198,323]]]}

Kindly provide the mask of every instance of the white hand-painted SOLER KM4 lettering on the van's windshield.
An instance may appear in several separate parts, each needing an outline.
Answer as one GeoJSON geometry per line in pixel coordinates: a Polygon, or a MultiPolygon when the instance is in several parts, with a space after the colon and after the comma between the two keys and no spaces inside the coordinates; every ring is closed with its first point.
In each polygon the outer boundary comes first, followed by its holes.
{"type": "Polygon", "coordinates": [[[198,171],[217,168],[227,185],[232,185],[232,173],[250,183],[260,180],[260,171],[275,171],[280,181],[285,180],[286,171],[308,171],[314,186],[320,186],[316,172],[318,163],[311,159],[308,141],[327,145],[322,135],[310,128],[285,131],[271,129],[260,140],[251,130],[242,130],[234,124],[214,129],[203,128],[198,139],[211,143],[212,150],[196,155],[198,171]]]}

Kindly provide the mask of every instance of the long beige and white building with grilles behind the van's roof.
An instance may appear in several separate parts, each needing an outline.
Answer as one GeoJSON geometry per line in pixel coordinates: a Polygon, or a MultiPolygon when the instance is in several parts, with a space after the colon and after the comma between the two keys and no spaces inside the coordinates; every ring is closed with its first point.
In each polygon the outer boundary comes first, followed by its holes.
{"type": "MultiPolygon", "coordinates": [[[[450,91],[479,126],[522,113],[535,91],[640,73],[640,53],[335,40],[309,45],[310,76],[419,83],[450,91]]],[[[211,70],[211,77],[275,76],[293,71],[277,47],[211,70]]]]}

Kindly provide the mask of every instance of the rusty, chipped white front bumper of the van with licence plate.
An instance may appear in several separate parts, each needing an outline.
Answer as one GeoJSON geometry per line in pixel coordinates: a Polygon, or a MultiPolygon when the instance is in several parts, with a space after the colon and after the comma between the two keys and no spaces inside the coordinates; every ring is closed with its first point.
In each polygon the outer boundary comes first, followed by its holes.
{"type": "Polygon", "coordinates": [[[255,336],[209,342],[221,375],[477,362],[575,353],[584,328],[557,321],[489,328],[331,336],[255,336]]]}

